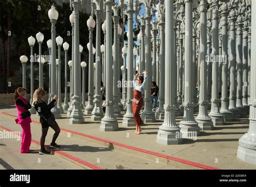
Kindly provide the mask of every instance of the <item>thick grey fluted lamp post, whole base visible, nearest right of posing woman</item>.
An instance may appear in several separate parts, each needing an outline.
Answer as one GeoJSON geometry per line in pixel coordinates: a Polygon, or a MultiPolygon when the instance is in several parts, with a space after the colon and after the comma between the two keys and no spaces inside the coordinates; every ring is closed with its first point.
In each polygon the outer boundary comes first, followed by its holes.
{"type": "Polygon", "coordinates": [[[157,134],[157,142],[164,145],[180,144],[183,139],[180,135],[180,128],[176,124],[175,120],[175,95],[174,87],[176,83],[173,82],[176,69],[174,66],[174,23],[173,23],[173,1],[165,2],[166,11],[166,42],[165,49],[168,53],[165,53],[165,117],[164,123],[159,127],[157,134]]]}

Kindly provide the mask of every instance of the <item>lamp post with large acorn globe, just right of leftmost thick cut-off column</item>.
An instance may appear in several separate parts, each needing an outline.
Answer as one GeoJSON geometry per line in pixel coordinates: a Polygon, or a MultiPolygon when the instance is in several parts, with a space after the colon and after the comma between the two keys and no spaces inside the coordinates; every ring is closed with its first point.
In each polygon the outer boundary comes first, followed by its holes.
{"type": "Polygon", "coordinates": [[[92,45],[92,31],[95,28],[96,22],[92,16],[87,20],[87,26],[89,28],[89,45],[87,48],[89,50],[89,90],[88,90],[88,104],[85,107],[84,114],[91,114],[93,110],[93,45],[92,45]]]}

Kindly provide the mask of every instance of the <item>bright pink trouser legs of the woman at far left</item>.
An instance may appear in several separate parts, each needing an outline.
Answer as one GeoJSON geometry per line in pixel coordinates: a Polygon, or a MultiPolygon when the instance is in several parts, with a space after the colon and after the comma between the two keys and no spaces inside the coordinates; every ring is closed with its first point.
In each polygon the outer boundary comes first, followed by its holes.
{"type": "Polygon", "coordinates": [[[30,144],[31,144],[31,130],[30,123],[21,124],[22,126],[22,141],[21,141],[21,153],[29,153],[30,152],[30,144]]]}

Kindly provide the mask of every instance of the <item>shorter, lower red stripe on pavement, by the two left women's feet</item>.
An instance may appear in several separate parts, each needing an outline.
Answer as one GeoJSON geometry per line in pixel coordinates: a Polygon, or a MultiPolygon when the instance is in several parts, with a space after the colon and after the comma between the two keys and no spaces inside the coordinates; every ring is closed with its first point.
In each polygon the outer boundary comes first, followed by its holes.
{"type": "MultiPolygon", "coordinates": [[[[6,128],[6,127],[4,127],[4,126],[2,126],[2,125],[0,125],[0,128],[2,128],[2,129],[5,130],[5,131],[14,132],[14,131],[10,130],[9,128],[6,128]]],[[[37,141],[37,140],[32,139],[31,141],[32,141],[33,143],[36,143],[37,145],[40,145],[40,142],[37,141]]],[[[47,147],[48,147],[48,146],[47,146],[47,147]]],[[[76,157],[76,156],[72,156],[72,155],[70,155],[70,154],[68,154],[68,153],[62,152],[61,150],[52,149],[52,151],[53,151],[53,152],[56,152],[56,153],[58,153],[58,154],[60,154],[60,155],[63,155],[63,156],[65,156],[65,157],[67,157],[67,158],[69,158],[69,159],[71,159],[71,160],[73,160],[73,161],[79,162],[79,163],[81,163],[81,164],[83,164],[84,166],[87,166],[87,167],[89,167],[89,168],[96,169],[96,170],[102,170],[102,169],[103,169],[103,168],[100,168],[100,167],[98,167],[98,166],[96,166],[96,165],[94,165],[94,164],[91,164],[91,163],[86,162],[86,161],[84,161],[84,160],[82,160],[82,159],[79,159],[79,158],[76,157]]]]}

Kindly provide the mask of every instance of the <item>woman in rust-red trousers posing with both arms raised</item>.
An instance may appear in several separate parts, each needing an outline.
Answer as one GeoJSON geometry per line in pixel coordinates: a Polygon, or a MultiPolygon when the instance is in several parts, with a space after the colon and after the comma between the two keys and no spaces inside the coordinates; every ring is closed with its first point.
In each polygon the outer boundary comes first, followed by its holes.
{"type": "Polygon", "coordinates": [[[143,121],[139,116],[139,111],[142,109],[144,90],[146,89],[147,82],[147,72],[143,71],[144,76],[138,76],[138,73],[133,78],[133,99],[132,99],[132,112],[135,120],[136,131],[135,134],[140,134],[142,132],[143,121]]]}

